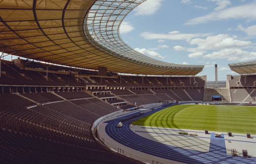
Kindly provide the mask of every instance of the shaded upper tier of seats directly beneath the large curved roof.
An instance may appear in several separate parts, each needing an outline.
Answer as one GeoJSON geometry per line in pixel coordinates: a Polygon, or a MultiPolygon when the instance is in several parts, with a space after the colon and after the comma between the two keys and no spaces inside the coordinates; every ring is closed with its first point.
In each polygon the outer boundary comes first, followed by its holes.
{"type": "MultiPolygon", "coordinates": [[[[85,86],[82,78],[70,74],[22,70],[13,63],[2,62],[0,84],[33,86],[85,86]],[[48,79],[46,79],[46,75],[48,79]],[[82,80],[81,80],[82,79],[82,80]]],[[[108,87],[204,87],[201,77],[118,76],[117,78],[93,77],[89,81],[108,87]]]]}

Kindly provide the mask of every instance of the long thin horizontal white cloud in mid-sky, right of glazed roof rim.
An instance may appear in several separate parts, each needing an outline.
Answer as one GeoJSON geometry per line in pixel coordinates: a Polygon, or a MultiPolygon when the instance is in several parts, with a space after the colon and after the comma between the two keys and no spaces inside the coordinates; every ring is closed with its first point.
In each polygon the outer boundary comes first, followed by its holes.
{"type": "Polygon", "coordinates": [[[147,40],[152,39],[168,39],[168,40],[186,40],[189,42],[192,38],[204,37],[210,35],[209,33],[202,34],[159,34],[159,33],[151,33],[151,32],[143,32],[140,34],[141,37],[147,40]]]}

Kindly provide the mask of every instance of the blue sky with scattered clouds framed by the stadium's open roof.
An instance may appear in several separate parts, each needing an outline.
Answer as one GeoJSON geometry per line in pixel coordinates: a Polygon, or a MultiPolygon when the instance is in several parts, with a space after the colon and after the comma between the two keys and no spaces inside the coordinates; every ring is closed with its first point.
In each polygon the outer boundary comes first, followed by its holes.
{"type": "Polygon", "coordinates": [[[152,58],[205,65],[213,81],[236,75],[227,64],[256,60],[256,0],[146,0],[125,18],[122,39],[152,58]]]}

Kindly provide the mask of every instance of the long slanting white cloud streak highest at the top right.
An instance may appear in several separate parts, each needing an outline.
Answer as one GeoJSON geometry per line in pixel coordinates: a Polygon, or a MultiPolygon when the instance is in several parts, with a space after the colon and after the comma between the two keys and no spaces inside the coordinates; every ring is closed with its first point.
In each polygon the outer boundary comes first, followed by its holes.
{"type": "Polygon", "coordinates": [[[208,23],[210,21],[219,21],[219,20],[227,20],[227,19],[248,19],[255,20],[256,19],[256,2],[229,7],[227,9],[223,9],[220,11],[211,12],[202,17],[193,18],[185,24],[200,24],[200,23],[208,23]]]}

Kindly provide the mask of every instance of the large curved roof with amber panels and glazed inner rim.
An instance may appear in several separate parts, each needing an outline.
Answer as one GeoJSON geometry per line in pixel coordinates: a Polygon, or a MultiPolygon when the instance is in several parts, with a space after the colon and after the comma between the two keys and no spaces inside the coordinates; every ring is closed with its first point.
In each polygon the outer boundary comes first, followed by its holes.
{"type": "Polygon", "coordinates": [[[148,75],[196,75],[125,44],[119,27],[145,0],[1,0],[0,51],[64,66],[148,75]]]}

